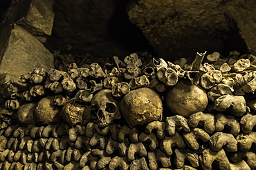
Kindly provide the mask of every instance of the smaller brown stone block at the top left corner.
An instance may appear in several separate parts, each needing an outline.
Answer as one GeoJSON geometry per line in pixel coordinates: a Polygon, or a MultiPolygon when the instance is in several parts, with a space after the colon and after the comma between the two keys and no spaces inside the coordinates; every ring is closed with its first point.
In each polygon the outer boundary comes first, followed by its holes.
{"type": "Polygon", "coordinates": [[[32,0],[25,16],[17,24],[35,36],[49,36],[53,28],[53,3],[54,0],[32,0]]]}

